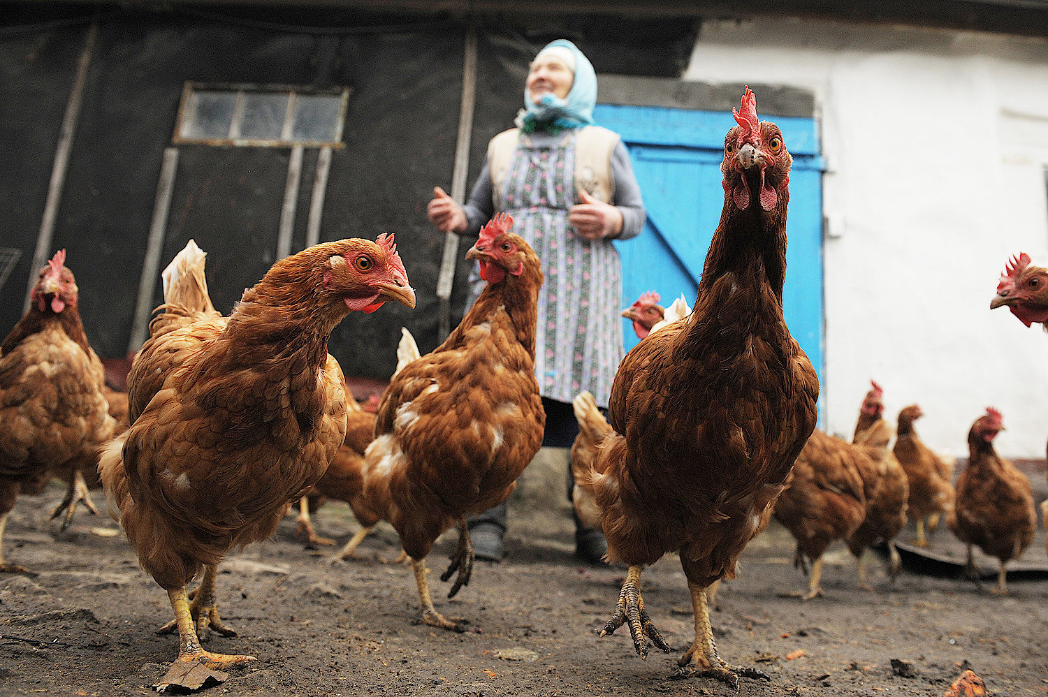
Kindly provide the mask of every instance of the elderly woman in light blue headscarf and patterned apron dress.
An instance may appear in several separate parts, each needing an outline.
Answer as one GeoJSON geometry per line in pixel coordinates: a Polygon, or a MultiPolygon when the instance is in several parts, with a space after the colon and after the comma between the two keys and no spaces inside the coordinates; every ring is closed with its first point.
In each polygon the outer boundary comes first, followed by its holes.
{"type": "MultiPolygon", "coordinates": [[[[543,444],[551,446],[574,440],[571,399],[578,392],[589,390],[598,406],[608,406],[623,358],[621,269],[611,240],[634,237],[645,223],[626,146],[593,126],[595,104],[589,60],[570,41],[548,44],[531,62],[517,128],[492,138],[470,200],[460,205],[438,188],[428,208],[440,231],[468,236],[495,213],[508,213],[514,232],[542,259],[534,370],[546,410],[543,444]]],[[[483,288],[476,268],[470,283],[472,301],[483,288]]],[[[607,550],[603,533],[575,523],[576,554],[599,562],[607,550]]],[[[470,528],[478,559],[502,558],[504,503],[470,528]]]]}

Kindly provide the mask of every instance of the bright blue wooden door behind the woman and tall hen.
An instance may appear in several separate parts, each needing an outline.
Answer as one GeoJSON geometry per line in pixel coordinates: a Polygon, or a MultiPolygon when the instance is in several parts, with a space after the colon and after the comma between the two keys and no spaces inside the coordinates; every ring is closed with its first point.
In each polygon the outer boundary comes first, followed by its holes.
{"type": "MultiPolygon", "coordinates": [[[[662,304],[684,293],[694,304],[702,263],[724,204],[720,164],[730,113],[597,105],[596,123],[619,133],[648,210],[643,232],[616,242],[623,258],[623,307],[645,290],[662,304]]],[[[786,323],[823,378],[823,161],[811,118],[776,117],[793,156],[786,233],[786,323]]],[[[637,343],[624,320],[626,349],[637,343]]]]}

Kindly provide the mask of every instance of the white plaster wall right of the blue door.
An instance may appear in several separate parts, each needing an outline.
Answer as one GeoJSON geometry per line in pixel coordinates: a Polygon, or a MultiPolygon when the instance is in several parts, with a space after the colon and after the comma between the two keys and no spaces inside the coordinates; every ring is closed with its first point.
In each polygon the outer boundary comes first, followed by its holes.
{"type": "Polygon", "coordinates": [[[935,450],[966,456],[968,428],[994,406],[1008,429],[998,452],[1043,458],[1048,334],[989,301],[1010,255],[1048,262],[1048,41],[714,21],[683,79],[815,94],[831,221],[827,430],[851,435],[874,378],[890,420],[921,405],[935,450]]]}

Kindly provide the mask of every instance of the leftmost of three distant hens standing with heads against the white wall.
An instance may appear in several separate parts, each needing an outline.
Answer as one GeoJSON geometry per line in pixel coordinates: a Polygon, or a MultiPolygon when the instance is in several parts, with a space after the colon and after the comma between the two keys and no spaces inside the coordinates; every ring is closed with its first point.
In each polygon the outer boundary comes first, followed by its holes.
{"type": "Polygon", "coordinates": [[[859,470],[866,483],[866,518],[847,540],[848,550],[855,557],[858,568],[858,587],[863,590],[871,590],[866,582],[863,556],[867,547],[878,540],[888,546],[888,573],[892,582],[898,576],[902,560],[895,549],[894,540],[907,524],[907,500],[910,498],[907,473],[888,448],[893,433],[892,427],[882,418],[883,391],[872,380],[871,388],[863,399],[852,437],[852,442],[870,456],[873,464],[873,467],[859,470]]]}

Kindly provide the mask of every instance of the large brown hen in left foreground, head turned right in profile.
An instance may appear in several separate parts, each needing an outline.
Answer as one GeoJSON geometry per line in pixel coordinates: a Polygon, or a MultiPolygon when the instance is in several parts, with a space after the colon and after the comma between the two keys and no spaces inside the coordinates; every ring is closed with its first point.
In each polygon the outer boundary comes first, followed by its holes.
{"type": "Polygon", "coordinates": [[[346,429],[328,337],[350,311],[387,300],[415,305],[383,235],[277,262],[227,319],[169,300],[151,323],[129,379],[131,428],[106,449],[100,470],[110,515],[174,610],[178,659],[165,685],[252,659],[200,647],[198,630],[232,631],[215,602],[217,565],[232,547],[271,535],[324,474],[346,429]],[[191,605],[185,585],[201,567],[191,605]]]}

